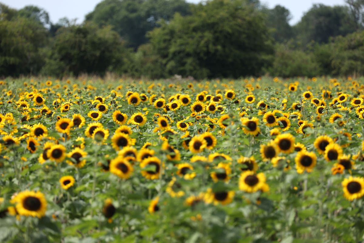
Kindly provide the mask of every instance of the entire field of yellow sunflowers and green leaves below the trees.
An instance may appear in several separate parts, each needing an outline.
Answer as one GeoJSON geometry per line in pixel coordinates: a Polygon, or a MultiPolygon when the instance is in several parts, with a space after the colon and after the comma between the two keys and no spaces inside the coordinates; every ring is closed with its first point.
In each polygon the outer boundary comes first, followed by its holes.
{"type": "Polygon", "coordinates": [[[364,240],[360,79],[0,88],[0,242],[364,240]]]}

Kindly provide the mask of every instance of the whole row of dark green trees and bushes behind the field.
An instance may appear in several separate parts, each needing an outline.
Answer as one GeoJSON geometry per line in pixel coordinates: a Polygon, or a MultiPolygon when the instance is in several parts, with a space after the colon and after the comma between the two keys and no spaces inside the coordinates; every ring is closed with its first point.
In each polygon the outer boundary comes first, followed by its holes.
{"type": "Polygon", "coordinates": [[[85,21],[0,3],[0,77],[362,75],[364,0],[314,4],[291,26],[258,0],[104,0],[85,21]]]}

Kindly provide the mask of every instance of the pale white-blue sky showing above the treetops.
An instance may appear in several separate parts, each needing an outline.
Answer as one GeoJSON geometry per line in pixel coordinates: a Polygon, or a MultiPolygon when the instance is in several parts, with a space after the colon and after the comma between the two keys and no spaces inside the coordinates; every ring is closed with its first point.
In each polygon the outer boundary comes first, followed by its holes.
{"type": "MultiPolygon", "coordinates": [[[[59,19],[67,17],[68,19],[77,19],[76,23],[81,23],[84,16],[91,12],[101,0],[0,0],[9,7],[20,9],[26,5],[36,5],[45,9],[49,15],[52,23],[57,23],[59,19]]],[[[187,0],[190,3],[198,3],[199,0],[187,0]]],[[[279,4],[289,9],[292,19],[290,24],[294,25],[300,21],[304,12],[307,12],[313,4],[322,3],[325,5],[344,5],[344,0],[261,0],[262,4],[273,8],[279,4]]]]}

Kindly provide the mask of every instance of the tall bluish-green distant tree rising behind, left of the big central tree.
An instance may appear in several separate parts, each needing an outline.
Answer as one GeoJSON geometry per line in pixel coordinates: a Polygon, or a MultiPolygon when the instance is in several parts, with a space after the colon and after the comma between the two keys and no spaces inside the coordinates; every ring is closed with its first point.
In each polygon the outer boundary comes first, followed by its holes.
{"type": "Polygon", "coordinates": [[[146,33],[161,19],[170,20],[174,13],[190,13],[184,0],[104,0],[86,15],[98,26],[111,25],[128,46],[137,48],[148,41],[146,33]]]}

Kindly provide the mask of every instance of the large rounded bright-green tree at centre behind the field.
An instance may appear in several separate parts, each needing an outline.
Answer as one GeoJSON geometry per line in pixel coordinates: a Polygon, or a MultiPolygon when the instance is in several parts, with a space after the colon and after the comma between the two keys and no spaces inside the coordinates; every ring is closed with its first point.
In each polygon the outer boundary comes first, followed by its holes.
{"type": "MultiPolygon", "coordinates": [[[[260,75],[273,53],[264,15],[245,0],[213,0],[149,33],[160,76],[260,75]]],[[[154,54],[153,53],[153,54],[154,54]]]]}

